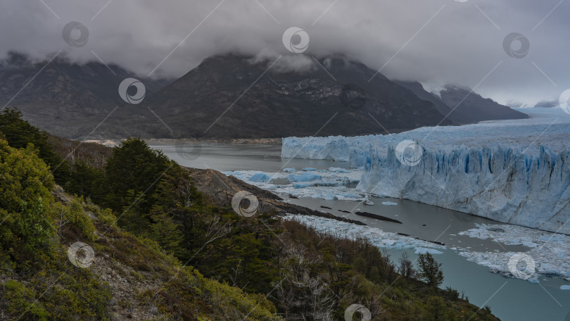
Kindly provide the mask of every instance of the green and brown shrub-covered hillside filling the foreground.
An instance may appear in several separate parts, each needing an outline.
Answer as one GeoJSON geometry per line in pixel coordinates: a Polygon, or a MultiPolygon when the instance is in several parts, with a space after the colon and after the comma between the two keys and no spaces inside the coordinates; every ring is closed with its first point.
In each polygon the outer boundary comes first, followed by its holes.
{"type": "MultiPolygon", "coordinates": [[[[21,130],[0,132],[13,140],[21,130]]],[[[101,168],[68,163],[70,175],[56,182],[82,196],[54,185],[32,145],[10,144],[0,140],[0,317],[342,320],[360,303],[374,321],[497,320],[438,289],[433,257],[420,257],[424,267],[396,264],[365,239],[317,233],[267,206],[237,215],[227,205],[234,190],[257,189],[217,173],[227,188],[203,194],[197,180],[208,172],[194,175],[140,139],[113,149],[101,168]]]]}

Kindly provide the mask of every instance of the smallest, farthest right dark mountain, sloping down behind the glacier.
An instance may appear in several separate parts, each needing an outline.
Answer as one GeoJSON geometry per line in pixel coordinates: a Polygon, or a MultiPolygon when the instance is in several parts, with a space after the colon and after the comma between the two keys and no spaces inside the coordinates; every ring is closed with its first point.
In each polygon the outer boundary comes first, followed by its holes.
{"type": "Polygon", "coordinates": [[[410,89],[419,98],[430,101],[437,110],[457,124],[469,124],[483,120],[524,119],[528,116],[519,111],[502,106],[492,99],[471,92],[467,87],[447,84],[439,96],[427,92],[419,82],[397,81],[400,86],[410,89]],[[458,106],[459,105],[459,106],[458,106]]]}

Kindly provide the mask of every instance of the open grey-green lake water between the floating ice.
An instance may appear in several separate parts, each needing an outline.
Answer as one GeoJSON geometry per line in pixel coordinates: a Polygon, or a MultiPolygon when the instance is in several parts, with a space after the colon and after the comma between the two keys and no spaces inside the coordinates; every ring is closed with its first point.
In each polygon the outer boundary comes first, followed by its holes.
{"type": "MultiPolygon", "coordinates": [[[[175,146],[175,144],[151,145],[162,150],[166,156],[180,165],[192,168],[212,168],[215,170],[260,170],[277,172],[281,168],[348,168],[348,163],[331,160],[281,159],[279,144],[201,144],[194,146],[175,146]]],[[[334,215],[343,216],[338,210],[361,210],[381,214],[403,222],[397,224],[371,218],[362,218],[348,214],[348,218],[361,220],[371,227],[379,227],[386,232],[410,234],[412,237],[436,240],[448,248],[454,246],[469,248],[473,251],[526,251],[524,246],[505,246],[491,241],[481,240],[457,233],[476,227],[476,223],[501,225],[486,218],[458,213],[453,210],[437,208],[423,203],[400,199],[372,199],[374,206],[364,206],[355,201],[324,200],[312,198],[290,199],[279,195],[289,203],[315,210],[326,210],[334,215]],[[383,201],[393,201],[397,206],[384,206],[383,201]],[[326,206],[331,209],[324,209],[326,206]],[[425,225],[425,226],[424,226],[425,225]]],[[[406,251],[412,260],[417,255],[414,249],[388,249],[392,260],[398,260],[406,251]]],[[[443,263],[443,287],[452,287],[469,297],[476,306],[490,306],[494,315],[506,321],[553,320],[570,321],[570,291],[560,289],[561,285],[570,285],[561,278],[540,277],[539,284],[532,284],[521,279],[502,277],[489,272],[489,268],[470,262],[457,251],[439,250],[438,262],[443,263]]]]}

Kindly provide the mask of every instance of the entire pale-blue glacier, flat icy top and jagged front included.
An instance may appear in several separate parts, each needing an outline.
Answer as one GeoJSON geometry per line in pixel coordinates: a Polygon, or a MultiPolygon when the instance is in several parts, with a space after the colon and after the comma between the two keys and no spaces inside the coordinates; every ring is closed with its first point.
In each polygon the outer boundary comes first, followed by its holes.
{"type": "Polygon", "coordinates": [[[560,108],[519,111],[530,118],[362,137],[288,137],[281,156],[349,161],[364,169],[360,191],[570,234],[570,115],[560,108]],[[405,139],[422,147],[417,165],[395,155],[405,139]]]}

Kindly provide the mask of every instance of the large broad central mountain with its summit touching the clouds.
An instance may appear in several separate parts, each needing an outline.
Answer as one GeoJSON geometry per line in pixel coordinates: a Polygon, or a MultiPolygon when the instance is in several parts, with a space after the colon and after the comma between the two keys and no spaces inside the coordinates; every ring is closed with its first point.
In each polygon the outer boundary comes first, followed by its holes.
{"type": "Polygon", "coordinates": [[[368,82],[374,70],[345,57],[310,61],[305,70],[271,64],[214,56],[145,103],[183,137],[372,134],[435,125],[442,118],[433,103],[384,75],[368,82]]]}

